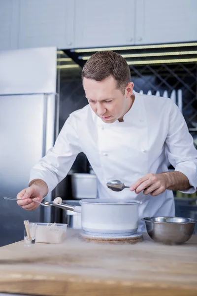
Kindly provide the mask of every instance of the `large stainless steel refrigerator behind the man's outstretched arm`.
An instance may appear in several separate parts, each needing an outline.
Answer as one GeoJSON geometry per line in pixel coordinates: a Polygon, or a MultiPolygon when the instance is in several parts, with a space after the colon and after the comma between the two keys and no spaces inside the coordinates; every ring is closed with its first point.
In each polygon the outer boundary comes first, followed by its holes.
{"type": "Polygon", "coordinates": [[[51,220],[50,208],[26,211],[2,197],[28,187],[31,168],[54,144],[56,81],[55,47],[0,52],[0,246],[23,239],[24,220],[51,220]]]}

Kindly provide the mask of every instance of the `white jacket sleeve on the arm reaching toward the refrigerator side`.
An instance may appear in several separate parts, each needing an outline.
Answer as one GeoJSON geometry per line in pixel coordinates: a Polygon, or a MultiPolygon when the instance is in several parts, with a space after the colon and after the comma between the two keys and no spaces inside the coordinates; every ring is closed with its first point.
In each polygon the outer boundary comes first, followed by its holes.
{"type": "Polygon", "coordinates": [[[49,192],[52,191],[66,177],[79,152],[79,137],[68,117],[54,147],[32,168],[30,182],[41,179],[48,185],[49,192]]]}

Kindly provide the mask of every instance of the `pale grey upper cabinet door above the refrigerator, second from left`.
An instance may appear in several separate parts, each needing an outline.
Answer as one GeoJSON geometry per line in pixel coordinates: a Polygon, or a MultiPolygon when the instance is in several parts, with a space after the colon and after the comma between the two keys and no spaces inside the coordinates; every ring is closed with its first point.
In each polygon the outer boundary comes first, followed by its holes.
{"type": "Polygon", "coordinates": [[[74,0],[20,0],[19,48],[73,47],[74,0]]]}

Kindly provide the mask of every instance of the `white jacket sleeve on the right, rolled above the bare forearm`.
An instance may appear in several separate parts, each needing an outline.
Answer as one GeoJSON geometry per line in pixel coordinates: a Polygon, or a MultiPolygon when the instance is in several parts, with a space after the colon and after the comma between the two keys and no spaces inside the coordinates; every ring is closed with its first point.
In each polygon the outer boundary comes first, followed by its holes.
{"type": "Polygon", "coordinates": [[[183,173],[191,188],[181,192],[194,193],[197,190],[197,149],[193,137],[178,107],[171,102],[169,128],[166,137],[166,154],[175,171],[183,173]]]}

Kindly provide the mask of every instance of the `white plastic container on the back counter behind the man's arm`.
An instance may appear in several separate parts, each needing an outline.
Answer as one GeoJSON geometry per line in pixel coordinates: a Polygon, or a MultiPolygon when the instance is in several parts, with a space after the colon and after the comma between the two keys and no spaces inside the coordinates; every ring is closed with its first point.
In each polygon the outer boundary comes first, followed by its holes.
{"type": "Polygon", "coordinates": [[[75,199],[97,198],[97,176],[94,174],[72,174],[72,195],[75,199]]]}

